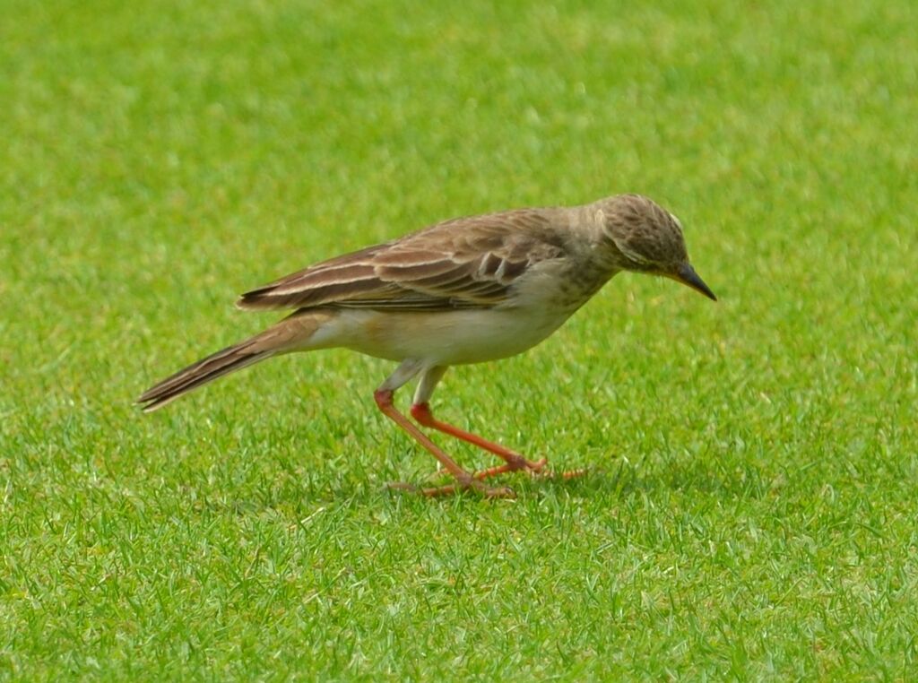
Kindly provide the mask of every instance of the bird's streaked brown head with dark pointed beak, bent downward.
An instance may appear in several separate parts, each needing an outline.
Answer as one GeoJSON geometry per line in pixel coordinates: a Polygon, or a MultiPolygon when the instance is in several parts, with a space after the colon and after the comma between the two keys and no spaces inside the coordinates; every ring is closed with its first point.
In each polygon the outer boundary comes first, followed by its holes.
{"type": "Polygon", "coordinates": [[[599,202],[603,234],[619,252],[624,270],[663,275],[717,301],[689,263],[678,218],[641,195],[618,195],[599,202]]]}

